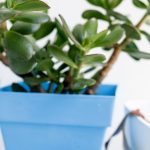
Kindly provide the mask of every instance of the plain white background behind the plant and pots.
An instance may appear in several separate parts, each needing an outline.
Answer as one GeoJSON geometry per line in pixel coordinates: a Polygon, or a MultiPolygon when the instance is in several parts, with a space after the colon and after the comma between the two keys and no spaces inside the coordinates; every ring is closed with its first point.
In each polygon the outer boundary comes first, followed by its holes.
{"type": "MultiPolygon", "coordinates": [[[[84,22],[84,20],[81,19],[81,12],[83,12],[83,10],[93,8],[86,2],[86,0],[45,1],[51,6],[51,16],[57,17],[58,14],[62,14],[70,27],[73,27],[77,23],[84,22]]],[[[143,15],[143,11],[133,7],[131,0],[124,0],[123,4],[117,8],[117,10],[127,14],[134,23],[136,23],[143,15]]],[[[99,29],[104,29],[104,27],[105,24],[100,22],[99,29]]],[[[150,32],[150,27],[143,25],[142,28],[148,29],[150,32]]],[[[140,43],[138,43],[138,45],[141,50],[150,52],[150,44],[144,38],[140,43]]],[[[18,77],[11,73],[8,68],[0,64],[0,86],[10,84],[12,81],[18,81],[18,77]]],[[[141,60],[136,62],[127,54],[122,53],[104,82],[118,84],[118,94],[113,121],[113,128],[115,128],[122,118],[123,104],[126,101],[150,100],[150,61],[141,60]]],[[[120,137],[113,141],[110,149],[121,150],[120,137]]]]}

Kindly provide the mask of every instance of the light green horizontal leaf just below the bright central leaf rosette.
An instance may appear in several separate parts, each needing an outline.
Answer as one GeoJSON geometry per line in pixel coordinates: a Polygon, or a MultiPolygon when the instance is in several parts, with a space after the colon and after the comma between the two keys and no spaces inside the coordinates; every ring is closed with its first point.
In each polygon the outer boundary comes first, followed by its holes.
{"type": "Polygon", "coordinates": [[[101,64],[105,59],[105,56],[102,54],[92,54],[84,56],[81,61],[83,64],[97,65],[101,64]]]}

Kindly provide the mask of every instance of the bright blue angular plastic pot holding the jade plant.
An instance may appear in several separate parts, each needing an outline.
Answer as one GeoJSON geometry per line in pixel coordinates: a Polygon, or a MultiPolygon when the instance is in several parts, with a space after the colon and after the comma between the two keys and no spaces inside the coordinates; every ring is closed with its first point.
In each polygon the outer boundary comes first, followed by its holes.
{"type": "Polygon", "coordinates": [[[115,85],[96,95],[0,92],[6,150],[102,150],[111,125],[115,85]]]}

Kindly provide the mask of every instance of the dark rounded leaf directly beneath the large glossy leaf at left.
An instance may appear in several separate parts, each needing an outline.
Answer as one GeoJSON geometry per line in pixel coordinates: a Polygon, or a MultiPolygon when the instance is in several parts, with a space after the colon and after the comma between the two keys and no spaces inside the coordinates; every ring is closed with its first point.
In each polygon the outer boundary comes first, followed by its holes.
{"type": "Polygon", "coordinates": [[[9,57],[8,61],[9,61],[10,68],[16,74],[27,74],[31,72],[36,66],[36,62],[34,59],[24,61],[21,59],[9,57]]]}

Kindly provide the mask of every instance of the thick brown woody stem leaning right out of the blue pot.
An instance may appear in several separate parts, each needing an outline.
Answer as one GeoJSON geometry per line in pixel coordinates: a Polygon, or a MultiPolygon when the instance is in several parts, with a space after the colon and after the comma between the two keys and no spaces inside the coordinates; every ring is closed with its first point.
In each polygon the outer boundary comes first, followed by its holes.
{"type": "MultiPolygon", "coordinates": [[[[147,16],[148,16],[148,14],[145,13],[144,16],[140,19],[140,21],[135,25],[135,28],[140,28],[141,25],[144,23],[147,16]]],[[[122,51],[122,48],[128,43],[129,40],[130,40],[130,38],[126,37],[120,44],[117,44],[114,46],[114,51],[113,51],[111,57],[109,58],[108,62],[94,77],[96,79],[96,84],[87,88],[87,90],[85,92],[86,94],[95,94],[97,87],[106,78],[106,76],[112,69],[113,65],[118,60],[119,55],[122,51]]]]}

